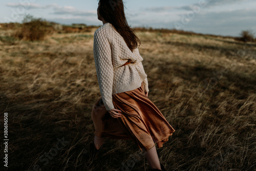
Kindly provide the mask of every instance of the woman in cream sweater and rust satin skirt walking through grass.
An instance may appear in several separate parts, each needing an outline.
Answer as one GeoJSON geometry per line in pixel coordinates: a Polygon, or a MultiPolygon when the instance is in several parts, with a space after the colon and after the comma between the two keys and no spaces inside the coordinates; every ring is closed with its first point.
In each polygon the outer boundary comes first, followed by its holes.
{"type": "Polygon", "coordinates": [[[90,153],[98,153],[104,138],[133,139],[146,152],[152,170],[165,170],[156,146],[162,147],[175,132],[148,98],[147,75],[139,54],[139,38],[128,26],[122,0],[100,0],[94,33],[94,59],[101,97],[95,102],[95,127],[90,153]]]}

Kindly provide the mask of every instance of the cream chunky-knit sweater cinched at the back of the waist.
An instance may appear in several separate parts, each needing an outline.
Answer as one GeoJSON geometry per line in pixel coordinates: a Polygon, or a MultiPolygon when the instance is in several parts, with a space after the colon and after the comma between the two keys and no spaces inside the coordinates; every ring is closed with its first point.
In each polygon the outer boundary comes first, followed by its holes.
{"type": "Polygon", "coordinates": [[[149,91],[139,49],[132,52],[111,23],[95,31],[93,52],[100,94],[107,111],[114,108],[112,95],[116,93],[135,90],[141,83],[144,91],[149,91]],[[128,60],[132,63],[122,66],[128,60]]]}

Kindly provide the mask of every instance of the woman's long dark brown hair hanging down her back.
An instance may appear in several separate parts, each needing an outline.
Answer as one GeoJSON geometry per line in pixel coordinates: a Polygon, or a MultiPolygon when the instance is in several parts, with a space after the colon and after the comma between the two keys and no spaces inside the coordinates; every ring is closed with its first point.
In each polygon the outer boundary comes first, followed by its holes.
{"type": "Polygon", "coordinates": [[[126,45],[133,52],[141,45],[140,39],[128,25],[122,0],[99,0],[99,14],[107,23],[111,23],[123,37],[126,45]]]}

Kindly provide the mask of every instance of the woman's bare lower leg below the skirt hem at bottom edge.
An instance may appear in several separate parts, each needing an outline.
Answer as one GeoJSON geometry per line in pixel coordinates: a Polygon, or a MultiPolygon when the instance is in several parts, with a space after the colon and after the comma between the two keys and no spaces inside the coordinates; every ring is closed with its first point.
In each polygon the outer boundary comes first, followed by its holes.
{"type": "Polygon", "coordinates": [[[160,165],[160,162],[158,159],[156,146],[149,149],[146,152],[145,156],[146,156],[146,159],[147,159],[148,163],[150,164],[151,168],[157,168],[157,169],[161,170],[161,165],[160,165]]]}

